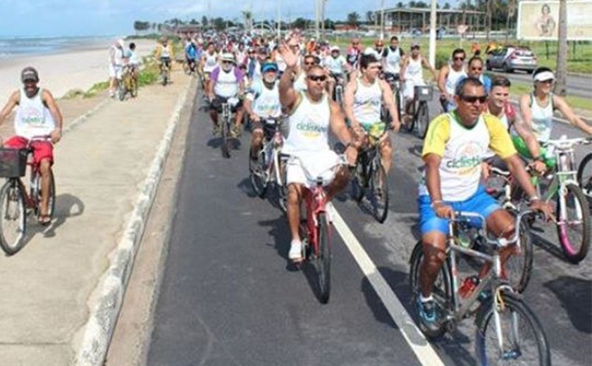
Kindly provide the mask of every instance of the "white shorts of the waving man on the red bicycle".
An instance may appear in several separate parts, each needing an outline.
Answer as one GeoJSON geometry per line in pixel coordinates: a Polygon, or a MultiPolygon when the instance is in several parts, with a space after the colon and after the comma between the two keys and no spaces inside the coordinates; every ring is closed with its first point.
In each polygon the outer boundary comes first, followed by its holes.
{"type": "Polygon", "coordinates": [[[339,156],[334,151],[325,150],[295,155],[298,156],[298,159],[288,160],[286,184],[304,184],[305,187],[310,188],[316,185],[316,177],[323,178],[323,186],[333,182],[335,177],[333,168],[339,163],[339,156]],[[308,175],[304,170],[308,172],[308,175]]]}

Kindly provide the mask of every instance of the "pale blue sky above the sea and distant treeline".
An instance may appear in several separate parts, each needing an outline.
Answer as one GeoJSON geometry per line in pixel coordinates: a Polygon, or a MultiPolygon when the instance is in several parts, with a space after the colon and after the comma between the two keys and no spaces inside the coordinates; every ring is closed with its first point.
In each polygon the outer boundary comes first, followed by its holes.
{"type": "MultiPolygon", "coordinates": [[[[203,15],[240,19],[250,4],[254,20],[269,19],[277,17],[280,1],[283,20],[314,18],[314,0],[0,0],[0,37],[125,35],[133,33],[135,20],[162,23],[201,20],[203,15]]],[[[400,0],[384,1],[393,7],[400,0]]],[[[326,15],[345,20],[347,13],[357,11],[364,19],[366,11],[380,5],[381,0],[328,0],[326,15]]]]}

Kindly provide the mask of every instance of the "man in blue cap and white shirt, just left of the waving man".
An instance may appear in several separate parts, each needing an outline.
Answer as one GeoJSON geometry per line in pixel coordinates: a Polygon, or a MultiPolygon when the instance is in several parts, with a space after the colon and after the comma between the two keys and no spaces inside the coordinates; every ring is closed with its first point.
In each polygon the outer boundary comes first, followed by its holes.
{"type": "MultiPolygon", "coordinates": [[[[263,79],[255,82],[249,88],[247,98],[245,99],[245,111],[253,122],[251,137],[251,158],[257,160],[257,153],[263,143],[265,129],[264,121],[267,117],[277,118],[282,113],[280,104],[280,91],[278,77],[278,65],[276,63],[264,63],[261,65],[263,79]]],[[[266,138],[271,138],[269,134],[266,138]]]]}

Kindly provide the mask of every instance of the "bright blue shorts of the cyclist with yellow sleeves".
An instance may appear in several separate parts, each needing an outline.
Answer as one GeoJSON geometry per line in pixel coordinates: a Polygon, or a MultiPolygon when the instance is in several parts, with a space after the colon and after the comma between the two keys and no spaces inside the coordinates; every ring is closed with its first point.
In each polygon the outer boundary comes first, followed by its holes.
{"type": "MultiPolygon", "coordinates": [[[[448,202],[446,204],[452,206],[455,211],[465,211],[471,213],[479,213],[479,215],[487,218],[498,210],[501,206],[489,196],[485,187],[479,185],[475,194],[464,201],[448,202]]],[[[419,230],[421,236],[428,232],[441,232],[448,236],[448,222],[450,220],[440,218],[436,215],[436,211],[431,206],[430,196],[424,194],[417,198],[417,208],[419,209],[419,230]]],[[[475,225],[482,225],[481,222],[475,222],[475,225]]]]}

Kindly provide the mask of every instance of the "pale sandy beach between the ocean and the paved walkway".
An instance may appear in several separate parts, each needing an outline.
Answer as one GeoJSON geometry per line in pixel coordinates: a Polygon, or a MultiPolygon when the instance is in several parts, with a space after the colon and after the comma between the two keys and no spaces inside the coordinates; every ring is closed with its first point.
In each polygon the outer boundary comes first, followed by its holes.
{"type": "MultiPolygon", "coordinates": [[[[56,98],[72,89],[87,91],[97,82],[109,80],[109,46],[114,41],[106,40],[104,44],[93,44],[82,50],[0,60],[0,103],[4,105],[8,96],[20,87],[20,71],[27,66],[37,68],[40,86],[49,89],[56,98]]],[[[156,46],[152,39],[126,40],[126,46],[129,42],[135,42],[140,57],[147,56],[156,46]]]]}

